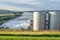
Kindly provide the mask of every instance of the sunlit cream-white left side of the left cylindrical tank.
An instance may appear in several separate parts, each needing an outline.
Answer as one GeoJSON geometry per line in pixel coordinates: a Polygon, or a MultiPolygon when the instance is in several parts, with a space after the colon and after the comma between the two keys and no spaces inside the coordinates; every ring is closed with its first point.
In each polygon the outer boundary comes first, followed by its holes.
{"type": "Polygon", "coordinates": [[[40,12],[33,13],[33,31],[39,30],[39,19],[40,19],[40,12]]]}

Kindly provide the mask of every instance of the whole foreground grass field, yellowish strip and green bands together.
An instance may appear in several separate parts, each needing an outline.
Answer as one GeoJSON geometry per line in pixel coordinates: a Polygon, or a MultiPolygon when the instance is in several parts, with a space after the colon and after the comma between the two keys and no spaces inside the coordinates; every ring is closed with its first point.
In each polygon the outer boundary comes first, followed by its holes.
{"type": "Polygon", "coordinates": [[[22,31],[11,31],[11,30],[0,31],[0,40],[60,40],[60,32],[59,31],[40,31],[40,32],[24,31],[22,32],[22,31]],[[44,36],[43,34],[44,35],[48,34],[48,35],[44,36]],[[52,37],[50,37],[51,34],[52,34],[52,37]],[[43,37],[41,37],[41,35],[43,35],[43,37]],[[55,35],[58,37],[54,37],[55,35]]]}

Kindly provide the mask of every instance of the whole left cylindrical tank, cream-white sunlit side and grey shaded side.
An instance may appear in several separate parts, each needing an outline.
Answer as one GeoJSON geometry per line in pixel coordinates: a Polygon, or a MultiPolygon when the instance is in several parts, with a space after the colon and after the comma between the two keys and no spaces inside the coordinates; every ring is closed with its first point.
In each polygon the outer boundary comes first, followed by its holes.
{"type": "Polygon", "coordinates": [[[44,30],[45,12],[38,11],[33,13],[33,31],[44,30]]]}

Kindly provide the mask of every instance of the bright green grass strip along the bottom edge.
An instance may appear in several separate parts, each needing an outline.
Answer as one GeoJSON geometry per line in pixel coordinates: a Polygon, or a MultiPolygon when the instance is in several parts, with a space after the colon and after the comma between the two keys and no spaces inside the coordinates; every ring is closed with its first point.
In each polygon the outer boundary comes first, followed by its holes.
{"type": "Polygon", "coordinates": [[[0,40],[60,40],[60,37],[17,37],[0,36],[0,40]]]}

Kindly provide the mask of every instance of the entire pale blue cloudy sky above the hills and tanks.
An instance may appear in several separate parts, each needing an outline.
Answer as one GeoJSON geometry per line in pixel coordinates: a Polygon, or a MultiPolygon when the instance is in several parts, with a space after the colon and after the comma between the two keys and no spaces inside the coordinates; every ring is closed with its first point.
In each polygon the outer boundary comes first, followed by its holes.
{"type": "Polygon", "coordinates": [[[0,0],[0,9],[13,11],[60,10],[60,0],[0,0]]]}

